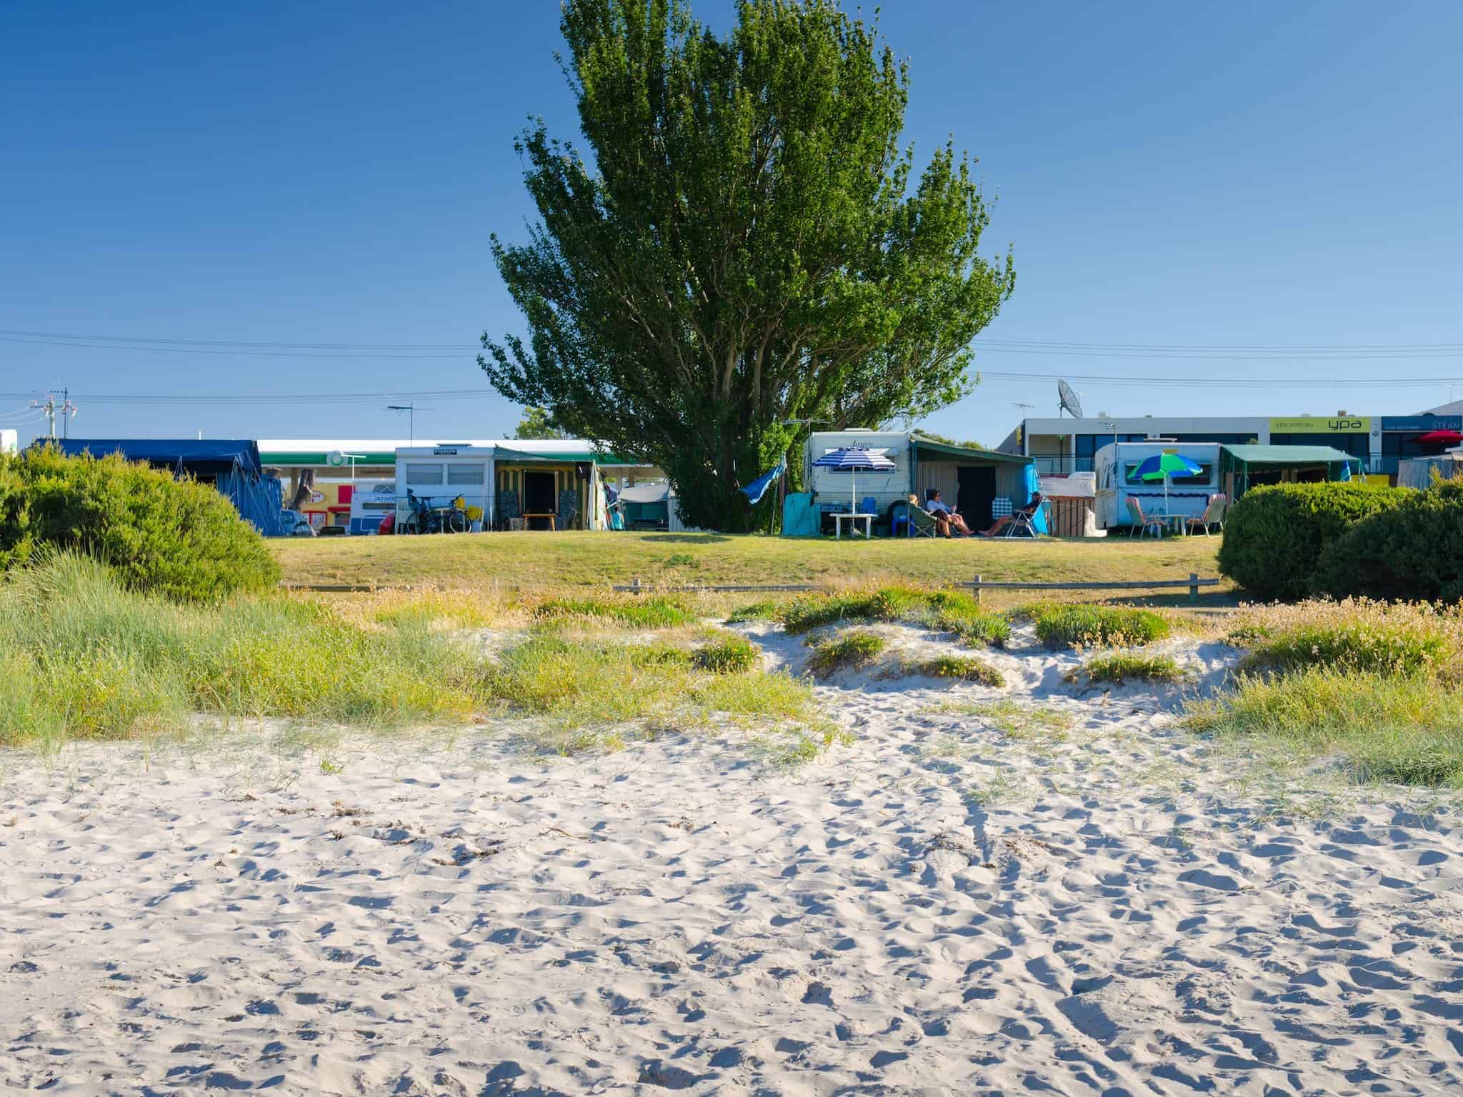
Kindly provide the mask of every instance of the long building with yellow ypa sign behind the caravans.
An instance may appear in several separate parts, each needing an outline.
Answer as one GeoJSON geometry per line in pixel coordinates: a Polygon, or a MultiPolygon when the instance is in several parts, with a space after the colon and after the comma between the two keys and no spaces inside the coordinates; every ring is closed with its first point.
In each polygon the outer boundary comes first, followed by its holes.
{"type": "Polygon", "coordinates": [[[1448,440],[1421,440],[1463,430],[1463,414],[1435,408],[1416,415],[1099,415],[1027,418],[1001,445],[1036,461],[1043,475],[1094,471],[1094,455],[1110,442],[1219,442],[1220,445],[1331,446],[1358,458],[1365,472],[1397,475],[1397,462],[1432,456],[1448,440]]]}

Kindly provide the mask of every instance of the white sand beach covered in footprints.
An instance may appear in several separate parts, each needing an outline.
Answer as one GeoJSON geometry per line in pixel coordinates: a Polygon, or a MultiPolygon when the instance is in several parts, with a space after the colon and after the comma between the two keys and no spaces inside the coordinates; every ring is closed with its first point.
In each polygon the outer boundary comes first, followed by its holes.
{"type": "Polygon", "coordinates": [[[1456,804],[1244,780],[1172,717],[1233,652],[1163,649],[1184,686],[834,677],[854,739],[797,769],[492,725],[12,753],[0,1091],[1463,1091],[1456,804]]]}

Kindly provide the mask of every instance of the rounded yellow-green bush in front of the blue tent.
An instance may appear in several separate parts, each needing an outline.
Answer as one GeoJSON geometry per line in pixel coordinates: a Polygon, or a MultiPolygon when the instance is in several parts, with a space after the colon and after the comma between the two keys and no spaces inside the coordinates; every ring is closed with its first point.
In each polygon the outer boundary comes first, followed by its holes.
{"type": "Polygon", "coordinates": [[[0,570],[48,548],[104,560],[136,591],[217,601],[279,581],[259,532],[212,487],[117,455],[0,455],[0,570]]]}

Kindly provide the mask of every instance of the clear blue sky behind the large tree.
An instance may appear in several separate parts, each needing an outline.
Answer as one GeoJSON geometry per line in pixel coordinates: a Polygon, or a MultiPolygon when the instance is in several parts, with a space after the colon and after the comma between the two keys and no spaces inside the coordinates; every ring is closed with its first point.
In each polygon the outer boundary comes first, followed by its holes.
{"type": "MultiPolygon", "coordinates": [[[[726,25],[730,0],[699,0],[726,25]]],[[[51,3],[0,15],[0,328],[152,339],[475,344],[521,331],[487,252],[530,215],[514,135],[578,136],[554,0],[51,3]]],[[[985,336],[1141,345],[1463,344],[1463,4],[897,0],[907,136],[952,135],[1018,287],[985,336]]],[[[325,354],[328,351],[319,351],[325,354]]],[[[0,426],[69,385],[75,436],[372,437],[385,401],[484,388],[471,353],[249,357],[0,341],[0,426]],[[86,395],[269,395],[108,404],[86,395]]],[[[1064,372],[1305,377],[1277,391],[1075,383],[1090,412],[1407,412],[1459,357],[1321,361],[982,350],[929,420],[996,442],[1064,372]]],[[[1463,395],[1463,386],[1459,388],[1463,395]]],[[[417,401],[497,436],[496,395],[417,401]]],[[[23,433],[31,429],[22,424],[23,433]]]]}

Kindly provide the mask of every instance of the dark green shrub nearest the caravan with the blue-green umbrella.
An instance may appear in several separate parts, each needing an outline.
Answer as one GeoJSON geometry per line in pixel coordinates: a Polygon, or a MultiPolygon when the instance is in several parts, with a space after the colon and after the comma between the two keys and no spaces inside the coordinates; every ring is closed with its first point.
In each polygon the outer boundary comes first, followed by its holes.
{"type": "Polygon", "coordinates": [[[1369,484],[1273,484],[1245,493],[1225,519],[1219,570],[1263,601],[1315,592],[1323,556],[1356,522],[1410,491],[1369,484]]]}

